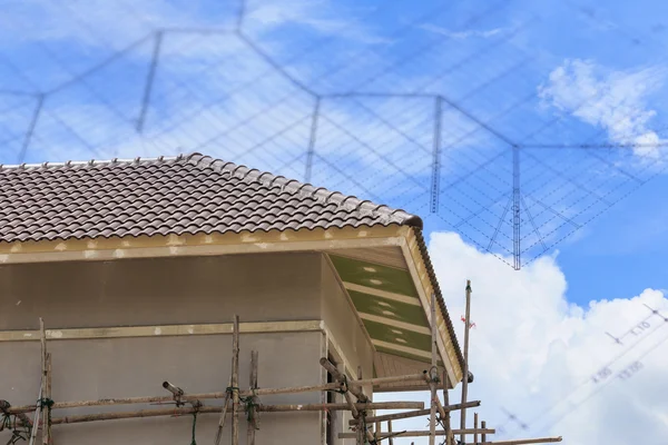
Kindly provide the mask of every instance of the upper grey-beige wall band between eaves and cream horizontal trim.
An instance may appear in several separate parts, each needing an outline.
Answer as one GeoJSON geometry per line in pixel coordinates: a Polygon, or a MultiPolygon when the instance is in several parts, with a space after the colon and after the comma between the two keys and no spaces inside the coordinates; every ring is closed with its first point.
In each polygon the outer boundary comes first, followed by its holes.
{"type": "Polygon", "coordinates": [[[0,329],[320,318],[318,254],[0,266],[0,329]]]}

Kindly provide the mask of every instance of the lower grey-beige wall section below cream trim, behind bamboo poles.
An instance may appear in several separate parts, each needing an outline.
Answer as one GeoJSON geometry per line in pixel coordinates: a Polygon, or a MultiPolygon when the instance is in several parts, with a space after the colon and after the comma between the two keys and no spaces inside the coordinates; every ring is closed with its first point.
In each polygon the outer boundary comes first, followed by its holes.
{"type": "MultiPolygon", "coordinates": [[[[265,387],[316,385],[317,363],[324,338],[320,333],[240,336],[240,386],[248,387],[250,350],[258,350],[258,382],[265,387]],[[281,372],[279,369],[291,369],[281,372]]],[[[114,338],[96,340],[52,340],[52,398],[86,400],[97,398],[168,395],[161,383],[169,380],[186,392],[220,392],[230,374],[232,338],[227,336],[114,338]]],[[[31,404],[40,380],[39,343],[0,343],[0,398],[14,405],[31,404]]],[[[222,400],[205,400],[220,405],[222,400]]],[[[318,393],[262,397],[262,403],[320,403],[318,393]]],[[[63,415],[158,408],[155,405],[122,405],[58,409],[63,415]]],[[[242,416],[240,443],[246,443],[242,416]]],[[[258,444],[317,444],[320,413],[265,413],[261,415],[258,444]]],[[[58,444],[156,444],[190,443],[193,416],[106,421],[89,424],[55,425],[58,444]]],[[[198,443],[210,443],[216,434],[217,414],[202,414],[197,421],[198,443]]],[[[230,422],[223,444],[229,444],[230,422]]],[[[0,433],[0,443],[9,433],[0,433]]]]}

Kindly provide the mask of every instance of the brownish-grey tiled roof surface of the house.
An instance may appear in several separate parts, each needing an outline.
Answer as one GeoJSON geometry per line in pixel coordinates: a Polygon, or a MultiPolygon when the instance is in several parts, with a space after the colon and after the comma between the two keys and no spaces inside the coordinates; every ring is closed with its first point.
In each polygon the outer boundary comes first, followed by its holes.
{"type": "Polygon", "coordinates": [[[0,243],[409,225],[403,210],[200,154],[0,166],[0,243]]]}

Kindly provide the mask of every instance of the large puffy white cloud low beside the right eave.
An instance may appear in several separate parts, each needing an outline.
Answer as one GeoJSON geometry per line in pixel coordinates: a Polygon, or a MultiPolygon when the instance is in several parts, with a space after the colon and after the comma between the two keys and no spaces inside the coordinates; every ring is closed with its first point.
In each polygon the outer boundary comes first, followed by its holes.
{"type": "MultiPolygon", "coordinates": [[[[489,427],[505,428],[494,439],[561,435],[568,445],[627,445],[640,437],[647,444],[665,443],[668,360],[661,356],[668,348],[668,323],[645,306],[668,316],[662,291],[645,289],[632,298],[580,307],[566,298],[567,277],[556,257],[514,271],[452,233],[432,234],[430,251],[458,332],[463,332],[465,280],[472,281],[477,327],[471,330],[470,363],[475,380],[469,399],[482,400],[477,411],[489,427]],[[641,322],[647,325],[629,332],[641,322]],[[622,345],[606,333],[621,338],[622,345]],[[619,377],[636,362],[641,366],[635,373],[619,377]],[[610,374],[593,383],[592,376],[605,367],[610,374]],[[508,422],[503,409],[529,429],[508,422]]],[[[452,392],[451,403],[460,397],[459,390],[452,392]]],[[[396,396],[383,396],[392,398],[396,396]]],[[[470,411],[469,425],[472,418],[470,411]]],[[[425,429],[425,423],[404,421],[393,428],[425,429]]]]}

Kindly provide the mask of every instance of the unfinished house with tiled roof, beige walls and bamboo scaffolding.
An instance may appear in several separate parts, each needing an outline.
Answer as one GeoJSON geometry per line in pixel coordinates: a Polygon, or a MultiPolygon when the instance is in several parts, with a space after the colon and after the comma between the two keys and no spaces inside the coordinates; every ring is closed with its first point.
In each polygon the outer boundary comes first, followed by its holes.
{"type": "Polygon", "coordinates": [[[0,189],[0,443],[492,443],[419,217],[199,154],[0,189]]]}

